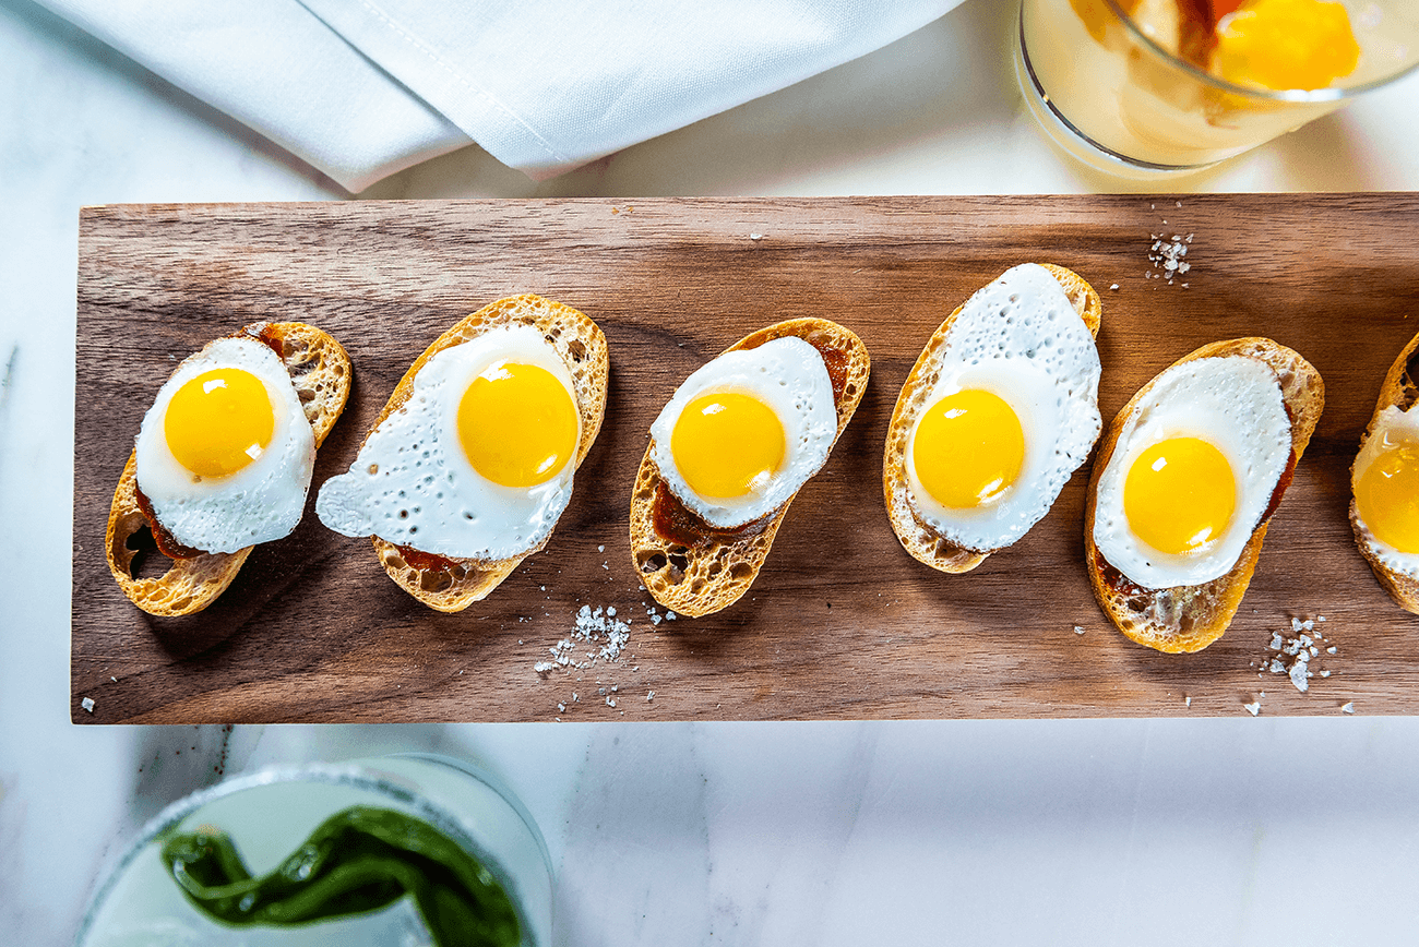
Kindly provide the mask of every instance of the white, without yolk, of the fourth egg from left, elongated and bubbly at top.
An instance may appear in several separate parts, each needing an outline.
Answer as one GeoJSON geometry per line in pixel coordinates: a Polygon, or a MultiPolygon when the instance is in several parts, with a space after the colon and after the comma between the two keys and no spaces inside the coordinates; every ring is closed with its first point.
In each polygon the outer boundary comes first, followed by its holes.
{"type": "Polygon", "coordinates": [[[1023,264],[966,301],[935,373],[927,408],[962,390],[998,396],[1020,420],[1025,459],[1015,483],[995,500],[944,506],[917,476],[922,410],[907,438],[910,502],[922,522],[958,546],[976,551],[1010,546],[1050,510],[1103,431],[1094,337],[1050,271],[1023,264]]]}

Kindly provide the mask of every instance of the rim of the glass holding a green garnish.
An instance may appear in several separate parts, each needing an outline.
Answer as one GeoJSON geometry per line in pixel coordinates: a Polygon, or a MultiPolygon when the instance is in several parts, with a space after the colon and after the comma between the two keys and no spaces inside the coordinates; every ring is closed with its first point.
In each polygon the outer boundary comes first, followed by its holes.
{"type": "MultiPolygon", "coordinates": [[[[465,773],[470,778],[478,780],[490,790],[492,790],[498,798],[507,802],[518,818],[526,824],[532,836],[536,839],[538,848],[542,855],[542,862],[546,865],[548,876],[552,875],[552,861],[546,848],[546,839],[542,836],[542,831],[532,821],[531,814],[526,807],[522,805],[521,800],[511,794],[511,791],[492,774],[484,773],[482,770],[474,770],[463,760],[455,760],[453,757],[444,757],[433,753],[390,753],[385,757],[360,757],[355,760],[325,763],[325,761],[309,761],[301,764],[285,764],[285,766],[270,766],[254,773],[243,773],[231,778],[223,780],[214,785],[209,785],[200,790],[194,790],[187,795],[173,800],[162,808],[156,815],[143,822],[142,829],[129,842],[122,855],[112,865],[104,866],[99,873],[99,885],[94,890],[94,896],[89,899],[84,909],[84,919],[79,921],[78,931],[74,936],[74,944],[77,947],[84,947],[88,936],[92,933],[95,919],[99,909],[108,903],[109,896],[118,886],[119,879],[128,872],[129,866],[138,861],[143,852],[148,851],[149,845],[160,838],[165,832],[172,831],[182,824],[183,819],[190,817],[197,809],[204,805],[214,802],[217,800],[234,795],[237,792],[244,792],[248,790],[255,790],[267,785],[284,784],[284,783],[299,783],[299,781],[316,781],[326,783],[332,785],[348,785],[353,788],[368,790],[379,795],[389,795],[390,798],[404,802],[412,807],[420,818],[429,821],[434,828],[448,832],[450,838],[461,848],[471,852],[484,866],[494,873],[498,883],[502,885],[508,892],[518,892],[518,886],[514,879],[508,875],[508,870],[502,863],[484,849],[464,828],[464,821],[458,818],[455,812],[451,812],[446,807],[436,804],[429,800],[421,791],[412,785],[402,785],[390,777],[399,777],[402,774],[389,773],[380,774],[372,764],[379,763],[380,758],[413,758],[423,760],[426,763],[441,763],[450,766],[455,770],[465,773]]],[[[176,883],[176,882],[173,882],[176,883]]],[[[529,919],[526,917],[526,910],[521,903],[519,897],[511,897],[514,910],[518,913],[518,921],[522,924],[524,930],[532,930],[529,919]]]]}

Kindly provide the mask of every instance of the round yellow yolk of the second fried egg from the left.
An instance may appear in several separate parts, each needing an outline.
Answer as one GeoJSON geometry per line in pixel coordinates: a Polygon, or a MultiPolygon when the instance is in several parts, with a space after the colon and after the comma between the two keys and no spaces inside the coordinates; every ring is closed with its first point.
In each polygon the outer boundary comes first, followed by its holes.
{"type": "Polygon", "coordinates": [[[536,486],[576,451],[576,404],[535,364],[490,366],[458,403],[458,441],[473,469],[502,486],[536,486]]]}

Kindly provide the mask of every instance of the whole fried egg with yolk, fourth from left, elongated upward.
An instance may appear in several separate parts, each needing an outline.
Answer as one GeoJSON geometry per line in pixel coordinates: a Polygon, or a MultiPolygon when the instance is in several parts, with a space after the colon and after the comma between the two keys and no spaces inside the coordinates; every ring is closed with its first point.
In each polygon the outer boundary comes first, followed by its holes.
{"type": "Polygon", "coordinates": [[[1098,439],[1098,377],[1094,337],[1043,267],[972,295],[922,376],[905,451],[917,517],[976,551],[1019,540],[1098,439]]]}

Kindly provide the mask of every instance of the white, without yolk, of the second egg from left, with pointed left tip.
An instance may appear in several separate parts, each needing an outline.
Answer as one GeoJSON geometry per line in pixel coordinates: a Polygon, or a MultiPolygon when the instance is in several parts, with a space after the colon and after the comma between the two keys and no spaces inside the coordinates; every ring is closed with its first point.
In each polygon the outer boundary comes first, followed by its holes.
{"type": "MultiPolygon", "coordinates": [[[[464,393],[502,362],[548,370],[578,407],[566,363],[534,326],[498,326],[444,349],[414,376],[409,400],[370,432],[349,472],[321,486],[321,522],[345,536],[455,559],[491,561],[541,549],[572,499],[575,455],[542,483],[504,486],[474,469],[458,439],[464,393]]],[[[580,417],[578,410],[575,444],[580,417]]]]}

